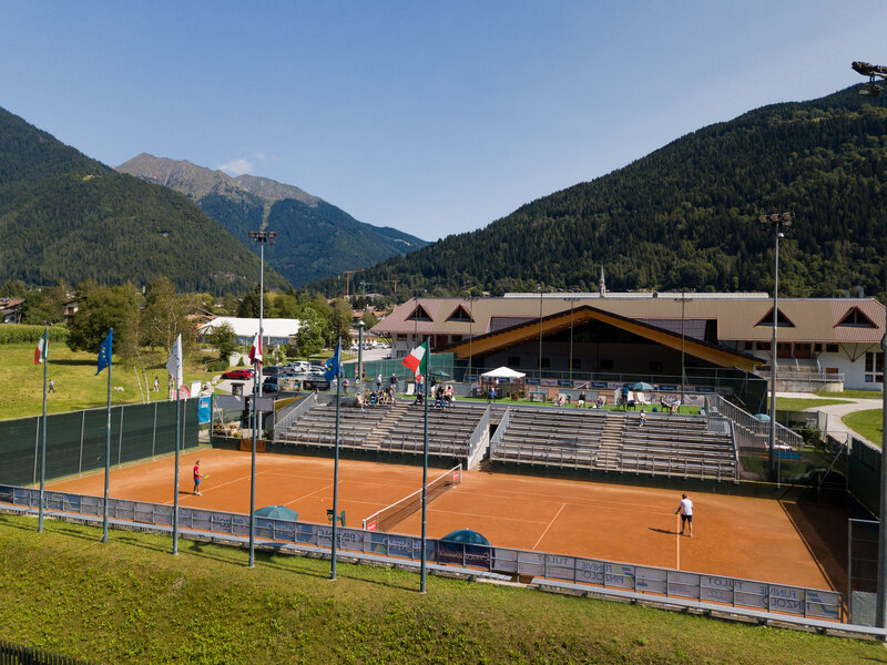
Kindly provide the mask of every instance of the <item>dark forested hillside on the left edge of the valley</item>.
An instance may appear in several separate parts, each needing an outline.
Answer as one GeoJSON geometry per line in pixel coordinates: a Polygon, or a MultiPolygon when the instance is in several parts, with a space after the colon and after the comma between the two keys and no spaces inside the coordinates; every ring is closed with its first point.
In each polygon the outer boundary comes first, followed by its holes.
{"type": "MultiPolygon", "coordinates": [[[[245,291],[258,259],[185,196],[86,157],[0,109],[0,282],[167,276],[180,289],[245,291]]],[[[271,287],[287,283],[273,270],[271,287]]]]}

